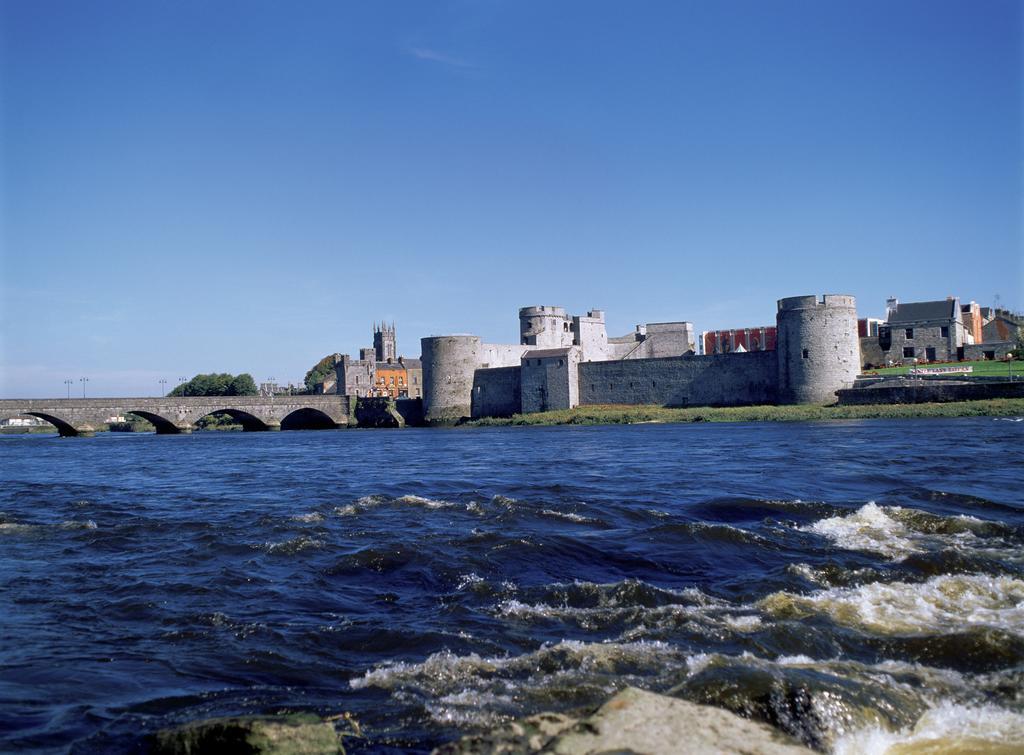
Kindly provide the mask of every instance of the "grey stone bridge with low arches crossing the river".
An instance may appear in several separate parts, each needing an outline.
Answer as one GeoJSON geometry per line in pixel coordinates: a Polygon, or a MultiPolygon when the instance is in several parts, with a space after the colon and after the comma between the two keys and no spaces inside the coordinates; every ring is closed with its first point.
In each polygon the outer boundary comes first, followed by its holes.
{"type": "Polygon", "coordinates": [[[61,435],[91,435],[111,417],[128,413],[160,433],[191,432],[209,414],[228,414],[246,430],[325,429],[355,422],[355,397],[346,395],[221,395],[162,399],[3,399],[0,419],[29,415],[61,435]]]}

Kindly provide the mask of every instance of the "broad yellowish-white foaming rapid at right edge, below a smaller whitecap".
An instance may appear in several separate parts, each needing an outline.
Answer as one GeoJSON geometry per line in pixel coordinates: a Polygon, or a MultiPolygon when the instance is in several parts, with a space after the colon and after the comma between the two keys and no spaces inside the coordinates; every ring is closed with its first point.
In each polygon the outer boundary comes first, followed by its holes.
{"type": "Polygon", "coordinates": [[[1024,581],[942,575],[927,582],[871,583],[795,595],[775,592],[758,607],[776,616],[824,614],[877,634],[950,634],[992,627],[1024,635],[1024,581]]]}

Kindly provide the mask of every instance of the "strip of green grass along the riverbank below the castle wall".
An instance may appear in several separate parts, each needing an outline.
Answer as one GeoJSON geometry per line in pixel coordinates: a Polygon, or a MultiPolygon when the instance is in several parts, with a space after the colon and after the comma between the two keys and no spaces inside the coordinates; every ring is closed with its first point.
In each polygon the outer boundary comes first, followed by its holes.
{"type": "Polygon", "coordinates": [[[916,417],[1021,417],[1024,399],[992,399],[949,404],[881,404],[856,407],[687,407],[600,405],[505,418],[473,420],[472,427],[509,425],[614,425],[642,422],[808,422],[825,419],[903,419],[916,417]]]}

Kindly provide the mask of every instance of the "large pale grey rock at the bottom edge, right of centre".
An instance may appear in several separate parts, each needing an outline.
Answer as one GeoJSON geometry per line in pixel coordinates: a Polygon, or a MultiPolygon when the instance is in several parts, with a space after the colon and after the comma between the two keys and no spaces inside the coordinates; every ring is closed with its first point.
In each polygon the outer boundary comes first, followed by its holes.
{"type": "Polygon", "coordinates": [[[433,755],[609,752],[810,755],[812,751],[734,713],[627,687],[587,718],[542,713],[444,745],[433,755]]]}

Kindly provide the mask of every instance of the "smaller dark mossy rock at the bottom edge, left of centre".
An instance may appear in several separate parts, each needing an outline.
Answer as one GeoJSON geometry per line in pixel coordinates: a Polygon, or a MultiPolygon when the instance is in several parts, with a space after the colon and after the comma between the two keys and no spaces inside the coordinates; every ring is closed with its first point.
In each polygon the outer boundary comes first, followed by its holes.
{"type": "Polygon", "coordinates": [[[154,755],[335,755],[344,753],[330,721],[285,716],[210,718],[163,729],[153,737],[154,755]]]}

